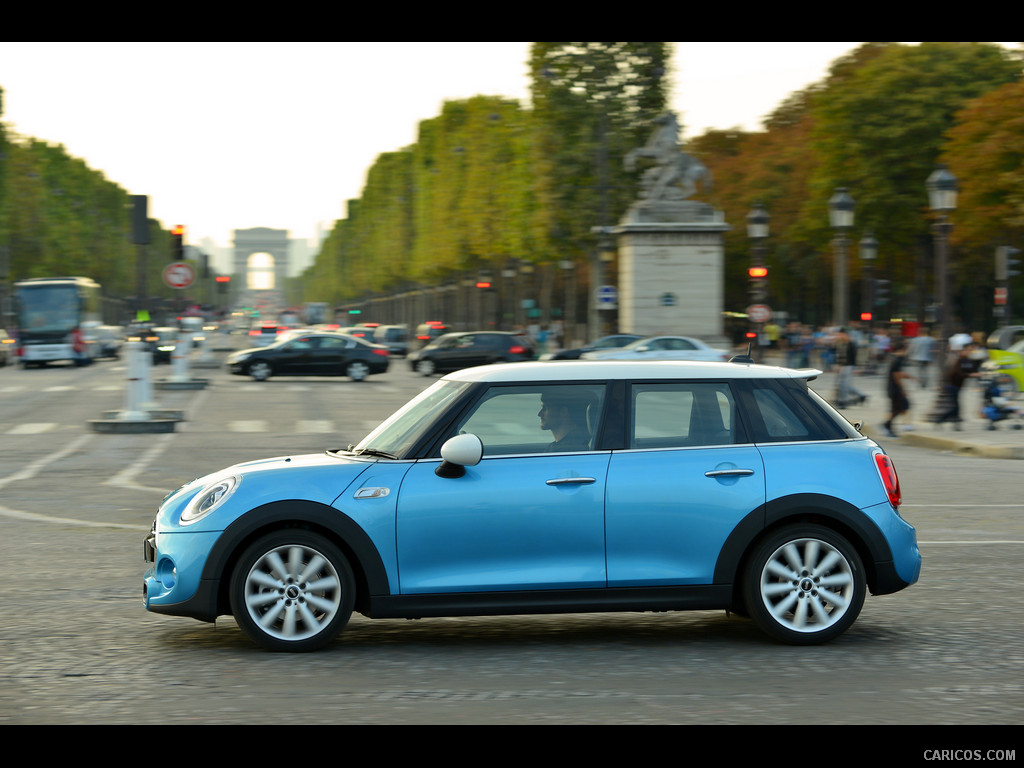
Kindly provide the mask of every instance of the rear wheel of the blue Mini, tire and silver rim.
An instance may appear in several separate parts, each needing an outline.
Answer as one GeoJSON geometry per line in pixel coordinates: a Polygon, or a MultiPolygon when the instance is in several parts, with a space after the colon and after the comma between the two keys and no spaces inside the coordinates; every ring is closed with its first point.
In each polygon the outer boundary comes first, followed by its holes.
{"type": "Polygon", "coordinates": [[[743,578],[751,618],[791,645],[827,642],[846,632],[867,587],[857,550],[823,525],[779,529],[753,556],[743,578]]]}

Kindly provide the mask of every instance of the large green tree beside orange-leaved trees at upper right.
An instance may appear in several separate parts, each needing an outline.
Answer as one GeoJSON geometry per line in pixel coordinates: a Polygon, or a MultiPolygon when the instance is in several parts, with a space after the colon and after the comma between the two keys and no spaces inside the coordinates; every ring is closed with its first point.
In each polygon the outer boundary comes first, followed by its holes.
{"type": "Polygon", "coordinates": [[[806,231],[827,241],[827,201],[837,186],[849,187],[858,229],[872,229],[881,244],[883,271],[911,284],[929,241],[925,180],[944,134],[968,101],[1019,74],[1015,57],[993,43],[866,43],[837,62],[812,99],[819,165],[806,231]]]}

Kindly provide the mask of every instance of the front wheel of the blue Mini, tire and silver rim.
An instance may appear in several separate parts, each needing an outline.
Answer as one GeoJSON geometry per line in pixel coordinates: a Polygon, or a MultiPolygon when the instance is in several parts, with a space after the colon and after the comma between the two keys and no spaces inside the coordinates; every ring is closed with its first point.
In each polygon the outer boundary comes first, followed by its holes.
{"type": "Polygon", "coordinates": [[[239,559],[230,601],[239,627],[267,650],[316,650],[348,624],[355,579],[341,550],[324,537],[276,530],[239,559]]]}

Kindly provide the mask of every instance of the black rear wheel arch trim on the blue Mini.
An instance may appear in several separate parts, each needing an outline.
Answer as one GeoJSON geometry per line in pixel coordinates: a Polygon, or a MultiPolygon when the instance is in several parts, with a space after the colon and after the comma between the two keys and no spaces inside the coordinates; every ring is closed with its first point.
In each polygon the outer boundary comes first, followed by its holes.
{"type": "Polygon", "coordinates": [[[896,575],[893,555],[874,522],[849,502],[823,494],[795,494],[773,499],[744,517],[726,540],[715,564],[715,584],[732,584],[733,599],[742,605],[742,573],[758,544],[796,522],[831,528],[850,542],[864,565],[872,594],[895,592],[905,586],[896,575]]]}

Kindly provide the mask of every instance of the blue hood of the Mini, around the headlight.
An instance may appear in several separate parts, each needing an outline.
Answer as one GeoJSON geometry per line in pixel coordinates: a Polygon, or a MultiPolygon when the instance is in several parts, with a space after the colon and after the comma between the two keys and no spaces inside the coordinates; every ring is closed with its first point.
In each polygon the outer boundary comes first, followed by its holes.
{"type": "Polygon", "coordinates": [[[222,530],[239,515],[272,502],[302,500],[330,505],[376,462],[376,458],[324,453],[236,464],[197,477],[169,494],[160,506],[158,519],[164,529],[176,527],[188,503],[204,488],[226,477],[239,481],[230,498],[208,517],[187,526],[188,530],[222,530]]]}

